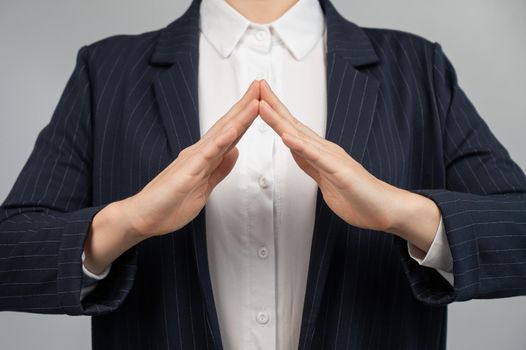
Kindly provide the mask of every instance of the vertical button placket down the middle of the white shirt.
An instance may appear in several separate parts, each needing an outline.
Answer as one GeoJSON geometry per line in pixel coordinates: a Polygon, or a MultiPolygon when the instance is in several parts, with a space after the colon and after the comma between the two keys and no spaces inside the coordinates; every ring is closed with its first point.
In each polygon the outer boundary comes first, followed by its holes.
{"type": "MultiPolygon", "coordinates": [[[[273,76],[271,63],[271,35],[267,28],[256,27],[251,33],[252,37],[247,42],[251,45],[248,51],[250,56],[247,72],[252,79],[265,79],[269,81],[273,76]]],[[[274,183],[274,137],[268,131],[270,127],[258,118],[250,131],[250,145],[252,158],[257,162],[250,164],[250,176],[254,183],[251,195],[254,201],[249,205],[249,212],[255,222],[251,234],[251,317],[255,326],[253,329],[254,340],[260,344],[270,344],[275,339],[275,327],[268,327],[275,317],[276,300],[276,275],[275,261],[271,252],[274,251],[273,233],[273,183],[274,183]],[[268,130],[268,131],[267,131],[268,130]],[[253,132],[253,133],[252,133],[253,132]],[[265,219],[262,219],[265,218],[265,219]],[[256,224],[257,222],[257,224],[256,224]]],[[[268,347],[265,347],[268,348],[268,347]]]]}

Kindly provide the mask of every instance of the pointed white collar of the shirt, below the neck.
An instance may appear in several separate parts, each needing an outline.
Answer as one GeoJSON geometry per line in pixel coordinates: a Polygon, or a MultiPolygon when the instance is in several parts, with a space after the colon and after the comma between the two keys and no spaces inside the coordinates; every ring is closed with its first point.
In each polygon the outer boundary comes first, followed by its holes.
{"type": "MultiPolygon", "coordinates": [[[[225,0],[202,0],[200,29],[223,57],[228,57],[252,24],[225,0]]],[[[298,0],[275,21],[268,23],[294,58],[301,60],[320,39],[325,18],[318,0],[298,0]]]]}

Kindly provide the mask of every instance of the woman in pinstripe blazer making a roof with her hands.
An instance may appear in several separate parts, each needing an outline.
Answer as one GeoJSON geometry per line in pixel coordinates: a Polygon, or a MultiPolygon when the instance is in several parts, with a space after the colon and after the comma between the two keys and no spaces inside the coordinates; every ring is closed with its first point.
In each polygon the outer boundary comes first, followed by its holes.
{"type": "Polygon", "coordinates": [[[0,305],[93,315],[95,349],[442,349],[447,303],[524,292],[525,190],[439,45],[194,1],[80,50],[2,207],[0,305]]]}

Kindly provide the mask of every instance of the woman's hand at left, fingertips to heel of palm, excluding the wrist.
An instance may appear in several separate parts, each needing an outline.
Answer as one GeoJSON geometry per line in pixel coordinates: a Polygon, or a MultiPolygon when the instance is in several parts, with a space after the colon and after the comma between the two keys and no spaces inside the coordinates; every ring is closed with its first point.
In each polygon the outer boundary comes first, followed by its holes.
{"type": "Polygon", "coordinates": [[[235,146],[258,113],[259,82],[253,81],[198,142],[183,149],[139,193],[123,201],[121,208],[130,227],[150,237],[176,231],[194,219],[234,167],[235,146]]]}

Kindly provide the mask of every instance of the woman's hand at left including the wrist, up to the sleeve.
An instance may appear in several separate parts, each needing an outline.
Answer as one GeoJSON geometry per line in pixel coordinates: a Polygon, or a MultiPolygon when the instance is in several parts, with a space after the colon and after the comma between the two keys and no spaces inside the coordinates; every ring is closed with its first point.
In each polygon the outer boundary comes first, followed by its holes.
{"type": "Polygon", "coordinates": [[[84,244],[84,266],[100,274],[140,241],[176,231],[194,219],[234,167],[236,144],[259,114],[259,97],[259,81],[253,81],[199,141],[183,149],[141,191],[99,211],[84,244]]]}

